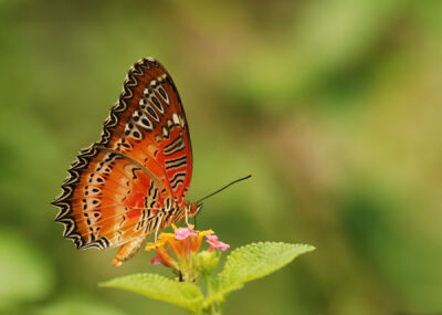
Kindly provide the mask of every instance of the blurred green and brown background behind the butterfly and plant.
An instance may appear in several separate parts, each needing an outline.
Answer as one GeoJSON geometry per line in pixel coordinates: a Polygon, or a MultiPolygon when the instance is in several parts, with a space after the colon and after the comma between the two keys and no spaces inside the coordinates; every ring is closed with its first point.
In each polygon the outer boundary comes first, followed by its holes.
{"type": "Polygon", "coordinates": [[[143,56],[185,103],[188,199],[253,175],[199,228],[317,248],[225,314],[442,312],[442,1],[0,0],[0,312],[186,314],[98,288],[167,271],[76,251],[50,206],[143,56]]]}

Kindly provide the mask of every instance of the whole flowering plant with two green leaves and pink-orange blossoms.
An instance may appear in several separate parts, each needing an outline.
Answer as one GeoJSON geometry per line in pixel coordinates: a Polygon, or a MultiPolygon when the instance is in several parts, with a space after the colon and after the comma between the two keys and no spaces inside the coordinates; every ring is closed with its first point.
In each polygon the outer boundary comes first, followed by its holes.
{"type": "Polygon", "coordinates": [[[282,269],[298,255],[315,248],[283,242],[252,243],[234,250],[217,275],[213,271],[220,261],[221,251],[229,249],[229,245],[220,242],[212,231],[194,231],[191,225],[180,229],[175,227],[175,234],[161,233],[158,242],[147,245],[147,250],[154,249],[157,255],[151,262],[172,269],[176,273],[173,280],[158,274],[141,273],[117,277],[99,285],[172,303],[192,314],[222,314],[222,306],[229,293],[242,288],[249,281],[282,269]],[[198,252],[203,237],[207,238],[210,248],[198,252]],[[204,294],[196,284],[199,280],[204,282],[204,294]]]}

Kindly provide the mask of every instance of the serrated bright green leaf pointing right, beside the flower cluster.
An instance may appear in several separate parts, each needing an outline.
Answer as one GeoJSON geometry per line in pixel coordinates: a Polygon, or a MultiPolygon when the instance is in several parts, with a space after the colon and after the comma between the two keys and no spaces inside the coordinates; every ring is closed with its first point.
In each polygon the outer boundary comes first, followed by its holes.
{"type": "Polygon", "coordinates": [[[282,269],[296,256],[315,250],[306,244],[282,242],[252,243],[234,250],[217,277],[217,297],[241,288],[245,282],[282,269]]]}

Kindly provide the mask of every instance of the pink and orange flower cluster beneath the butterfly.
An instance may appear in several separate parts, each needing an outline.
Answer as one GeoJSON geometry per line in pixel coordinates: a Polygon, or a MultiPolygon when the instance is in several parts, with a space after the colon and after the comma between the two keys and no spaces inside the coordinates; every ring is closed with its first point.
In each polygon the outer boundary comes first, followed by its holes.
{"type": "Polygon", "coordinates": [[[212,230],[196,231],[191,224],[187,228],[172,228],[173,233],[160,233],[157,242],[147,243],[146,250],[156,251],[150,263],[175,270],[179,281],[196,282],[201,273],[217,266],[218,255],[213,251],[223,252],[230,248],[229,244],[219,241],[212,230]],[[210,246],[207,251],[199,252],[204,238],[210,246]]]}

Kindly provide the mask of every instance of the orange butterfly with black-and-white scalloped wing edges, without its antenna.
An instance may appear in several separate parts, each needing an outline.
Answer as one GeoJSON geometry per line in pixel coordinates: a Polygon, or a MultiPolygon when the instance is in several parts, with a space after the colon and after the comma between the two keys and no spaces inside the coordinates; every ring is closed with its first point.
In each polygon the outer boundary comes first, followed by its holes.
{"type": "Polygon", "coordinates": [[[61,211],[64,237],[78,249],[122,245],[114,265],[134,255],[152,231],[181,220],[192,175],[189,127],[180,96],[154,59],[134,64],[101,140],[69,169],[61,211]]]}

